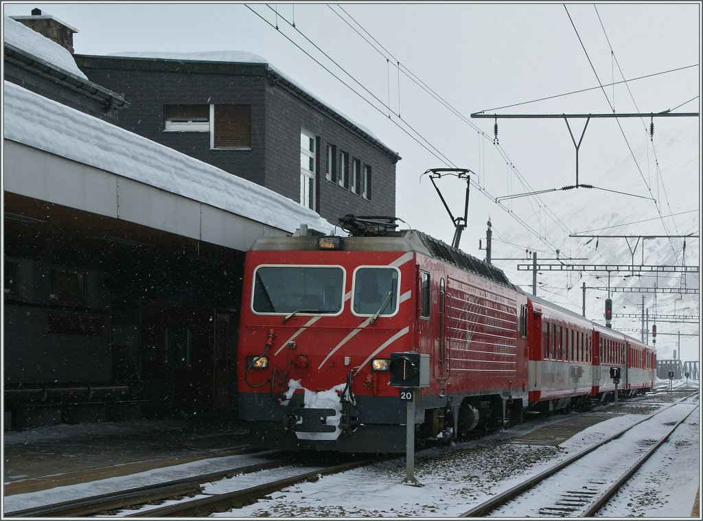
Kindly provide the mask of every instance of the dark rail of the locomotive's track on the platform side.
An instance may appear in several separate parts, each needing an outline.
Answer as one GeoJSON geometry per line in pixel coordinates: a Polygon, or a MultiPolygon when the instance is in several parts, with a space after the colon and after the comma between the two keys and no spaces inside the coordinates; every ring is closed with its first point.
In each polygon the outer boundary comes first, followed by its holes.
{"type": "Polygon", "coordinates": [[[81,499],[63,501],[62,503],[52,503],[51,505],[25,508],[14,512],[4,513],[6,517],[77,517],[94,515],[106,510],[116,510],[127,508],[132,505],[148,503],[149,501],[160,501],[174,496],[186,496],[193,492],[199,492],[200,484],[210,481],[221,480],[224,477],[231,477],[237,474],[248,474],[271,468],[290,465],[292,460],[282,459],[271,463],[254,463],[243,467],[229,468],[208,474],[184,477],[180,480],[173,480],[164,483],[136,487],[134,489],[109,492],[81,499]]]}

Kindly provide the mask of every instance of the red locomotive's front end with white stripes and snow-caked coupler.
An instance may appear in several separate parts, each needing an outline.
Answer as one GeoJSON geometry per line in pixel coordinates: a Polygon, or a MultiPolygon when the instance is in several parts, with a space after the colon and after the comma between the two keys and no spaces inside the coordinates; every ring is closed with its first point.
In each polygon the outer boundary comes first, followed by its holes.
{"type": "Polygon", "coordinates": [[[238,411],[252,444],[404,451],[388,368],[391,352],[415,350],[414,259],[402,238],[254,244],[238,342],[238,411]]]}

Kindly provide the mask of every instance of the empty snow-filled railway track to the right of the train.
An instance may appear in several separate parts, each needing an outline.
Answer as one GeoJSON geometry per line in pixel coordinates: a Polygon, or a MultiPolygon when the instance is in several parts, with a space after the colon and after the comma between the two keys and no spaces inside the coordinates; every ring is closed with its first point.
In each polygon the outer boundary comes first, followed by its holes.
{"type": "MultiPolygon", "coordinates": [[[[616,432],[593,446],[553,465],[538,475],[531,476],[522,483],[494,496],[459,517],[593,517],[603,508],[617,491],[654,455],[669,436],[699,407],[696,404],[690,411],[676,413],[673,408],[691,404],[697,392],[690,394],[660,411],[652,413],[638,423],[616,432]],[[668,412],[667,412],[668,411],[668,412]],[[662,416],[667,421],[662,421],[662,416]],[[671,419],[675,418],[675,419],[671,419]],[[641,439],[641,433],[647,437],[641,439]],[[638,437],[633,446],[633,438],[638,437]],[[628,451],[618,450],[618,444],[625,444],[628,451]],[[608,453],[630,452],[627,461],[608,458],[608,453]],[[605,454],[605,455],[604,455],[605,454]],[[604,463],[607,462],[607,463],[604,463]],[[588,469],[584,472],[584,469],[588,469]],[[591,476],[594,476],[593,478],[591,476]],[[542,498],[538,508],[520,507],[521,499],[527,496],[542,498]],[[519,514],[516,512],[519,511],[519,514]]],[[[679,408],[680,409],[680,408],[679,408]]],[[[525,501],[524,504],[534,504],[525,501]]]]}

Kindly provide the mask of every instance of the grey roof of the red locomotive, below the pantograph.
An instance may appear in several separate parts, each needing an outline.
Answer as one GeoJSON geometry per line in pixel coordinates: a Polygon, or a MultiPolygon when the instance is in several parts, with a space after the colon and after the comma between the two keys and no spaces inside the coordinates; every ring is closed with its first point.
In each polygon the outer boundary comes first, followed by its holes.
{"type": "MultiPolygon", "coordinates": [[[[418,252],[434,259],[453,264],[460,269],[487,278],[495,283],[515,289],[503,270],[482,261],[444,241],[428,236],[418,230],[385,231],[374,236],[352,236],[342,238],[345,251],[399,251],[418,252]]],[[[317,236],[301,235],[276,238],[260,238],[252,250],[318,250],[317,236]]]]}

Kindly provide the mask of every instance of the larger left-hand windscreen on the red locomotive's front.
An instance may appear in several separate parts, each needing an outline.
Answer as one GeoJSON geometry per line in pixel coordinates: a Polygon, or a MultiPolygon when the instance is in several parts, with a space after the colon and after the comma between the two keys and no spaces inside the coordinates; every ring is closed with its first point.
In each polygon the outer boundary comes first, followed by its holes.
{"type": "Polygon", "coordinates": [[[341,266],[259,266],[254,272],[252,311],[257,314],[339,314],[341,266]]]}

